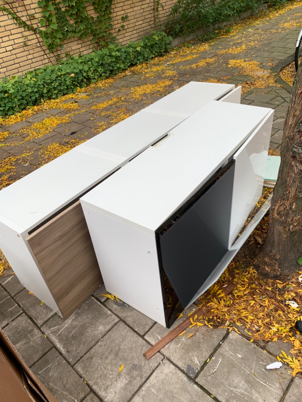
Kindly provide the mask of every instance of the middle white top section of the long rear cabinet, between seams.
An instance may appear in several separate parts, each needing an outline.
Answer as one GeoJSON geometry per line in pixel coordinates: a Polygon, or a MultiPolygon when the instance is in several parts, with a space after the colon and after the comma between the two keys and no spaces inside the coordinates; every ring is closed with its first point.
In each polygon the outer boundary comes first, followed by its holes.
{"type": "Polygon", "coordinates": [[[154,144],[184,119],[140,111],[80,144],[78,148],[97,152],[102,158],[115,158],[122,163],[154,144]]]}

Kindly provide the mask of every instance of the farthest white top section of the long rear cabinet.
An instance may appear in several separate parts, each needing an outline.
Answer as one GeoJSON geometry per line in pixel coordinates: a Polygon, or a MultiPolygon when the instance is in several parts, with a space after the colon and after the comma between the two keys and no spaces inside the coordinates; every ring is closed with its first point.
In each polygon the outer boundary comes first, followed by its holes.
{"type": "Polygon", "coordinates": [[[234,88],[232,84],[189,82],[144,110],[189,117],[210,100],[219,99],[234,88]]]}

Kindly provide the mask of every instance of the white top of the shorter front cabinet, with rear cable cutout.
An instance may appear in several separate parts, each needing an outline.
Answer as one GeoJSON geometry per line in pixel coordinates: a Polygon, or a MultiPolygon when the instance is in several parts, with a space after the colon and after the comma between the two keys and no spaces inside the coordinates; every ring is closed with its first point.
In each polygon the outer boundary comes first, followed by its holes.
{"type": "Polygon", "coordinates": [[[269,111],[211,101],[81,202],[151,233],[236,152],[269,111]]]}

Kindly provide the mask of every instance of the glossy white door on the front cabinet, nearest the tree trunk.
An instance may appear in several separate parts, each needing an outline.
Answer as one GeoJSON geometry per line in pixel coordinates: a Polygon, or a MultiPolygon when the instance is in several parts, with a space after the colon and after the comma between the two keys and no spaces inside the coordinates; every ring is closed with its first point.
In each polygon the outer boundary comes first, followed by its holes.
{"type": "Polygon", "coordinates": [[[273,111],[234,155],[236,162],[229,247],[261,197],[272,123],[273,111]]]}

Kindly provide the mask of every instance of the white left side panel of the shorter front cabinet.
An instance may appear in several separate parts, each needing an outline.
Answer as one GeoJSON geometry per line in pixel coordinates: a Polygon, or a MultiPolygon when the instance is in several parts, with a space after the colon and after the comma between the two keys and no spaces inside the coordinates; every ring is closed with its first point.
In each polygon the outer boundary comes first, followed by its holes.
{"type": "Polygon", "coordinates": [[[165,326],[155,235],[86,205],[83,211],[107,291],[165,326]]]}

